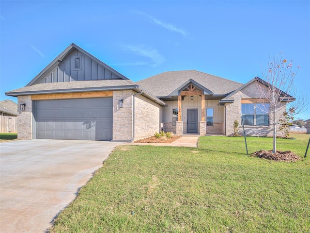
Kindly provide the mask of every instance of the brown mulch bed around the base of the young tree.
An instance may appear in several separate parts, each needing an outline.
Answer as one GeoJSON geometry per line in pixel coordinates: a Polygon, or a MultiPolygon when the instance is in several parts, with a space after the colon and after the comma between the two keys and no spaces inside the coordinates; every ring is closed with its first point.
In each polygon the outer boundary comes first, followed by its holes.
{"type": "Polygon", "coordinates": [[[270,159],[275,161],[284,161],[284,162],[295,162],[301,158],[294,154],[292,151],[280,151],[277,150],[276,153],[273,153],[272,150],[260,150],[252,154],[253,157],[270,159]]]}

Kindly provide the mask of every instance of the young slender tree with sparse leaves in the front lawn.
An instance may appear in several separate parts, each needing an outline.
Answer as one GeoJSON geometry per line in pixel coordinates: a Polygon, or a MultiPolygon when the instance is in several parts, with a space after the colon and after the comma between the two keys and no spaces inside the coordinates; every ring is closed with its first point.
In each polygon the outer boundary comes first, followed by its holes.
{"type": "Polygon", "coordinates": [[[289,114],[288,111],[290,110],[291,115],[305,111],[307,100],[303,96],[298,99],[294,97],[294,78],[298,69],[299,66],[294,68],[292,61],[288,62],[283,58],[281,52],[280,56],[269,57],[267,70],[262,69],[263,79],[257,79],[258,83],[261,83],[258,84],[259,102],[262,103],[260,107],[264,108],[261,111],[268,113],[269,123],[273,126],[274,153],[277,150],[277,130],[279,125],[283,124],[283,118],[289,114]]]}

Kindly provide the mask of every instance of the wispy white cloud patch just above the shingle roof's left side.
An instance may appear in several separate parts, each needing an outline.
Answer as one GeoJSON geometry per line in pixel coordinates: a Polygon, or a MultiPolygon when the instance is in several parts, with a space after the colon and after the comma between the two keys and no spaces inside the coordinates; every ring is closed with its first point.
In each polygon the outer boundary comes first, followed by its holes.
{"type": "MultiPolygon", "coordinates": [[[[147,48],[143,45],[138,45],[138,46],[125,45],[123,47],[125,50],[129,50],[140,56],[150,58],[151,65],[153,67],[157,67],[165,61],[165,59],[157,52],[157,50],[153,48],[147,48]]],[[[145,65],[145,64],[140,62],[139,65],[145,65]]]]}

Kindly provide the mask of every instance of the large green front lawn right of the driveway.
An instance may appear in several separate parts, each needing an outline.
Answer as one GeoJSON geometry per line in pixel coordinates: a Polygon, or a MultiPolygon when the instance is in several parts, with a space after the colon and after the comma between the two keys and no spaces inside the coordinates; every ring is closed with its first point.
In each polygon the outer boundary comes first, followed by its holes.
{"type": "MultiPolygon", "coordinates": [[[[279,139],[303,156],[309,135],[279,139]]],[[[51,233],[310,232],[310,159],[246,156],[242,137],[199,148],[121,146],[55,220],[51,233]]],[[[272,138],[248,138],[249,151],[272,138]]]]}

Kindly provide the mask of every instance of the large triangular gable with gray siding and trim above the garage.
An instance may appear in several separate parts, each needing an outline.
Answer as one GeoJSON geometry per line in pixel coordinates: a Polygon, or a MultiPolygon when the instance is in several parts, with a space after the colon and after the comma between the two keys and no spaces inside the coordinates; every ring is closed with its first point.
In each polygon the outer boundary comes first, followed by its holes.
{"type": "Polygon", "coordinates": [[[72,43],[34,77],[27,86],[37,83],[105,79],[127,80],[128,78],[72,43]]]}

